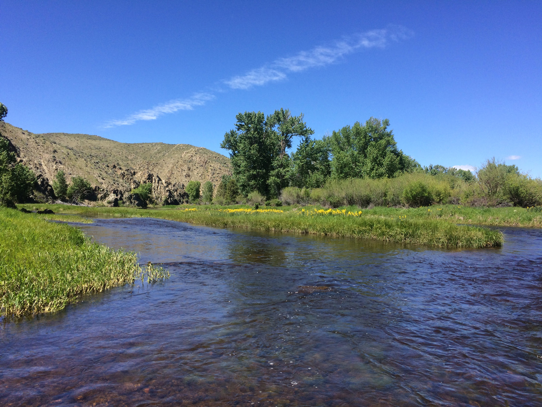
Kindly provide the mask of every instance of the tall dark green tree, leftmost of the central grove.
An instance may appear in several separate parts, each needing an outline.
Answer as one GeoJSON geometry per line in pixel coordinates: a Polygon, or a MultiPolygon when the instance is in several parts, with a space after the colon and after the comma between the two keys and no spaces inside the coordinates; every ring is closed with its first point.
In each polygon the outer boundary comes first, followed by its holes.
{"type": "Polygon", "coordinates": [[[231,167],[241,193],[257,190],[269,195],[269,176],[280,155],[278,135],[266,123],[262,112],[235,116],[235,129],[225,133],[220,147],[230,150],[231,167]]]}

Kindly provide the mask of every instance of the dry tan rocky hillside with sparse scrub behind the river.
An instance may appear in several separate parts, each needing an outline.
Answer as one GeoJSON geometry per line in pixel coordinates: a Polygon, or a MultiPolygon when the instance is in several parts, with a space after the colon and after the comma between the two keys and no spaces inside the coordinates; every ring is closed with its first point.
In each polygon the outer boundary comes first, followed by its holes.
{"type": "Polygon", "coordinates": [[[186,201],[191,180],[216,186],[231,174],[229,158],[190,144],[119,143],[99,136],[67,133],[34,134],[0,123],[20,161],[37,175],[35,190],[53,199],[50,184],[58,170],[68,183],[82,176],[94,186],[98,200],[114,205],[115,199],[134,203],[130,194],[141,183],[152,183],[154,200],[173,204],[186,201]]]}

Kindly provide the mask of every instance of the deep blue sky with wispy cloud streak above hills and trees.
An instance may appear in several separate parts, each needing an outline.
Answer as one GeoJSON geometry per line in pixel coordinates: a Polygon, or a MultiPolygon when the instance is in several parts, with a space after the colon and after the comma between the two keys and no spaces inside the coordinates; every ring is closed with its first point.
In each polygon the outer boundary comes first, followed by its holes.
{"type": "Polygon", "coordinates": [[[542,3],[4,2],[0,101],[32,132],[220,149],[241,111],[389,118],[422,165],[542,176],[542,3]],[[113,4],[112,4],[113,3],[113,4]]]}

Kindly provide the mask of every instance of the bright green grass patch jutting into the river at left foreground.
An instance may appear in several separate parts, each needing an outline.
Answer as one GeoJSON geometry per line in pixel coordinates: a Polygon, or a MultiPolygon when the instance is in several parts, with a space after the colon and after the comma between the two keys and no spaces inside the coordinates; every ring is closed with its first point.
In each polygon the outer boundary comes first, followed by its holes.
{"type": "Polygon", "coordinates": [[[147,282],[169,276],[152,265],[145,272],[135,253],[91,243],[78,228],[48,222],[45,216],[0,208],[3,315],[57,311],[80,295],[143,280],[145,274],[147,282]]]}

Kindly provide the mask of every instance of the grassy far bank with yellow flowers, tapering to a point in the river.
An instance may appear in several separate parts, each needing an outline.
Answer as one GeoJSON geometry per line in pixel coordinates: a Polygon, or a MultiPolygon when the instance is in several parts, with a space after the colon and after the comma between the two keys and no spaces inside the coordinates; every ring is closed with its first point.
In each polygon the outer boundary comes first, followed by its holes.
{"type": "MultiPolygon", "coordinates": [[[[32,205],[25,205],[32,209],[32,205]]],[[[494,247],[503,242],[502,233],[484,227],[458,226],[472,223],[455,219],[460,207],[325,210],[318,207],[278,207],[252,211],[247,206],[169,206],[154,209],[46,205],[57,213],[87,216],[151,217],[214,227],[308,233],[321,236],[368,238],[437,247],[494,247]],[[436,212],[435,212],[436,211],[436,212]],[[446,213],[446,216],[443,214],[446,213]]]]}

